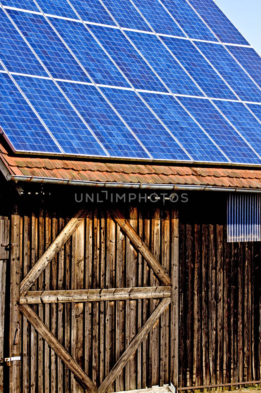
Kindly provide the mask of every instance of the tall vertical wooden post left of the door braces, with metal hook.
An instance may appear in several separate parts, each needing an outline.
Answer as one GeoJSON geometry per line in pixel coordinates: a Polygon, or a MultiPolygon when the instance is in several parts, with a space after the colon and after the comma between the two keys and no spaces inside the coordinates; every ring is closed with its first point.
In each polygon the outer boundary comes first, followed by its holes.
{"type": "MultiPolygon", "coordinates": [[[[20,214],[17,205],[14,205],[11,215],[11,243],[16,243],[17,246],[11,246],[10,260],[11,260],[11,279],[10,279],[10,330],[9,330],[9,351],[10,356],[20,356],[20,337],[18,344],[13,348],[13,340],[17,325],[21,327],[20,320],[20,281],[21,281],[21,268],[22,259],[20,258],[20,214]]],[[[21,363],[19,361],[11,362],[10,365],[10,391],[13,393],[20,393],[20,378],[21,378],[21,363]]]]}

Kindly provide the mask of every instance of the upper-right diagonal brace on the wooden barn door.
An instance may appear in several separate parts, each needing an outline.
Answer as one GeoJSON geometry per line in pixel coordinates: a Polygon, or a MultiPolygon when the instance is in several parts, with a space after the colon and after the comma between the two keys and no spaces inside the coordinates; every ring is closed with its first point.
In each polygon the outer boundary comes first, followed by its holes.
{"type": "Polygon", "coordinates": [[[170,285],[170,277],[162,267],[162,265],[157,261],[154,257],[153,253],[149,250],[149,248],[143,243],[142,239],[134,231],[129,221],[125,219],[123,214],[118,210],[110,209],[110,214],[117,222],[121,230],[125,233],[125,235],[130,239],[130,241],[134,244],[137,251],[143,256],[143,258],[147,261],[147,263],[153,269],[153,272],[156,276],[164,283],[165,285],[170,285]]]}

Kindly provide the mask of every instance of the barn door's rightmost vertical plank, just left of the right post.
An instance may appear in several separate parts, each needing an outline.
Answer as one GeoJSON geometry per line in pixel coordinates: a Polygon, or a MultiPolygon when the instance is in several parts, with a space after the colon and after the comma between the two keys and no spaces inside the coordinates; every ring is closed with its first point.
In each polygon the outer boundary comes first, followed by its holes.
{"type": "MultiPolygon", "coordinates": [[[[170,215],[162,213],[162,266],[169,274],[170,215]]],[[[169,383],[169,308],[160,317],[160,386],[169,383]]]]}

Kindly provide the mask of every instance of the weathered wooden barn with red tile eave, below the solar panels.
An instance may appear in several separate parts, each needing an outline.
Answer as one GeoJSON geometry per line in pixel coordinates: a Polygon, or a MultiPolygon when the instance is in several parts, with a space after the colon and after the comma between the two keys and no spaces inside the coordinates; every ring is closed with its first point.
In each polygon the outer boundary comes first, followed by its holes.
{"type": "Polygon", "coordinates": [[[0,149],[2,391],[260,383],[260,169],[0,149]]]}

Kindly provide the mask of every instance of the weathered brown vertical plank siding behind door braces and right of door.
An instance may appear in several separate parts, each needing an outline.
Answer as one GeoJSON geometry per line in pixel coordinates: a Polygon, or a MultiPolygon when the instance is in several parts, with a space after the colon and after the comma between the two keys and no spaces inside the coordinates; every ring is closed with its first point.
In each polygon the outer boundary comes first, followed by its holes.
{"type": "MultiPolygon", "coordinates": [[[[105,205],[100,206],[91,206],[83,224],[31,290],[160,285],[105,205]]],[[[173,205],[157,206],[125,206],[125,217],[170,272],[174,209],[173,205]]],[[[185,206],[182,209],[186,211],[185,206]]],[[[72,217],[70,208],[53,210],[51,204],[44,203],[20,206],[21,279],[72,217]]],[[[261,244],[228,244],[224,219],[215,221],[207,215],[202,219],[199,215],[181,214],[179,232],[179,386],[260,380],[261,244]]],[[[6,264],[10,261],[0,261],[0,334],[8,337],[9,319],[3,312],[9,313],[10,290],[5,280],[10,282],[11,269],[6,268],[5,277],[6,264]]],[[[140,299],[37,304],[32,308],[99,386],[159,302],[140,299]]],[[[154,325],[109,392],[170,382],[169,310],[154,325]]],[[[21,316],[20,321],[21,391],[83,392],[26,318],[21,316]]],[[[3,345],[1,336],[1,354],[9,356],[9,345],[3,345]]],[[[5,378],[7,386],[8,372],[7,366],[0,367],[0,385],[5,378]]]]}

